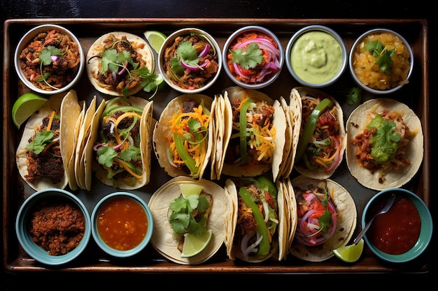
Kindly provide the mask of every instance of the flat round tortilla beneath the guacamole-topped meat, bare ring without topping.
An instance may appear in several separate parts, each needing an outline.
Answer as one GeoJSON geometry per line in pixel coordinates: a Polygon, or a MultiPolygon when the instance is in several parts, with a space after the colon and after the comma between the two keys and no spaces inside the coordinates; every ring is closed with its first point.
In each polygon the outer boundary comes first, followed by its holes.
{"type": "MultiPolygon", "coordinates": [[[[418,116],[404,103],[389,98],[368,100],[351,112],[346,126],[346,162],[348,170],[350,170],[353,177],[355,177],[355,179],[357,179],[363,186],[377,191],[386,188],[400,188],[404,184],[407,184],[407,182],[409,182],[418,172],[421,163],[423,163],[424,155],[423,129],[418,116]],[[383,110],[388,110],[389,112],[400,112],[402,114],[403,122],[407,124],[409,128],[409,144],[407,146],[406,156],[411,163],[406,167],[400,167],[398,170],[390,170],[389,172],[376,170],[372,172],[371,170],[362,167],[362,165],[356,160],[356,147],[351,144],[351,140],[353,140],[356,135],[362,133],[366,128],[370,121],[369,114],[373,112],[379,113],[383,110]]],[[[406,136],[408,136],[408,134],[406,136]]]]}

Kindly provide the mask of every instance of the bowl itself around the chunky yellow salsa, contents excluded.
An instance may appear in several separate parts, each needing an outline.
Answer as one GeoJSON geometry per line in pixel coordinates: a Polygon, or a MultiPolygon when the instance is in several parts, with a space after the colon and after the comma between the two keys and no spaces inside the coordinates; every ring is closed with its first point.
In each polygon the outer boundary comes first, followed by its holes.
{"type": "MultiPolygon", "coordinates": [[[[383,43],[383,45],[388,45],[388,43],[383,43]]],[[[393,47],[388,47],[388,48],[391,49],[393,47]]],[[[399,53],[400,52],[397,52],[397,50],[396,50],[396,54],[399,54],[399,53]]],[[[411,46],[409,45],[407,40],[404,39],[403,36],[401,36],[399,33],[392,31],[390,29],[371,29],[369,31],[366,31],[365,33],[362,33],[362,35],[359,36],[355,40],[355,42],[353,43],[353,46],[351,47],[350,57],[348,59],[351,77],[353,77],[353,80],[355,81],[356,84],[358,84],[358,86],[360,88],[362,88],[365,91],[368,91],[369,93],[372,93],[372,94],[391,94],[391,93],[394,93],[395,91],[398,91],[399,89],[401,89],[404,86],[404,84],[407,84],[407,82],[409,81],[409,77],[411,77],[412,69],[414,68],[414,57],[413,56],[414,56],[414,54],[412,53],[411,46]],[[406,49],[407,49],[406,53],[409,54],[409,66],[408,66],[408,72],[407,72],[407,76],[406,76],[406,82],[404,82],[402,84],[398,84],[397,86],[395,84],[393,84],[393,86],[390,86],[390,88],[388,88],[388,89],[379,89],[379,88],[375,88],[375,87],[372,88],[372,87],[369,87],[369,85],[362,83],[362,81],[360,80],[358,75],[356,75],[355,68],[354,68],[354,62],[355,62],[354,52],[356,50],[356,47],[358,45],[360,45],[363,42],[363,40],[365,38],[367,38],[367,36],[370,36],[373,34],[379,35],[381,33],[392,33],[393,35],[400,38],[400,40],[402,40],[402,43],[404,44],[404,47],[406,47],[406,49]]],[[[367,58],[372,59],[373,61],[375,60],[375,58],[372,58],[371,56],[368,56],[367,58]]],[[[394,59],[394,57],[393,57],[393,59],[394,59]]],[[[369,64],[371,64],[371,63],[369,63],[369,64]]],[[[381,73],[381,74],[383,74],[383,73],[381,73]]],[[[383,80],[383,78],[379,78],[379,79],[383,80]]]]}

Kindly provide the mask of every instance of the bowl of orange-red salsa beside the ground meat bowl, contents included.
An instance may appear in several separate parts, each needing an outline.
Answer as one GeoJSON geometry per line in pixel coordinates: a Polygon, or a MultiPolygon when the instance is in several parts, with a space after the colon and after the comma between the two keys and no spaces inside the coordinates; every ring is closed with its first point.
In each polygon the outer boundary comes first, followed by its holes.
{"type": "Polygon", "coordinates": [[[108,255],[127,258],[145,248],[153,233],[153,217],[141,197],[129,192],[106,195],[92,211],[92,237],[108,255]]]}

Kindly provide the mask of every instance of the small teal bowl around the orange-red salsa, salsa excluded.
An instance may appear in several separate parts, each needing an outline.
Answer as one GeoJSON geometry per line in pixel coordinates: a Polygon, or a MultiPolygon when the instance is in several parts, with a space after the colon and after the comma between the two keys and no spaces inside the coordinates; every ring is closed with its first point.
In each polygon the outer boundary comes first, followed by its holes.
{"type": "MultiPolygon", "coordinates": [[[[123,216],[120,216],[120,217],[123,218],[123,216]]],[[[145,248],[149,244],[150,238],[152,237],[152,234],[153,234],[153,217],[152,217],[152,213],[150,212],[150,209],[148,207],[148,204],[146,204],[146,202],[144,202],[141,199],[141,197],[139,197],[135,194],[129,193],[129,192],[111,193],[111,194],[108,194],[105,197],[103,197],[101,200],[99,200],[99,202],[97,202],[96,206],[94,207],[94,209],[92,211],[91,221],[92,221],[92,237],[93,237],[94,241],[96,241],[97,246],[99,246],[99,248],[101,248],[102,251],[104,251],[108,255],[111,255],[115,258],[127,258],[127,257],[132,257],[133,255],[136,255],[137,253],[142,251],[143,248],[145,248]],[[129,198],[131,200],[134,200],[134,202],[138,203],[143,208],[143,210],[146,214],[146,218],[148,219],[148,228],[147,228],[146,234],[144,235],[141,242],[138,245],[136,245],[134,248],[130,248],[127,250],[122,250],[122,251],[118,250],[116,248],[113,248],[111,246],[108,246],[108,244],[106,244],[106,242],[101,237],[101,235],[99,234],[99,231],[97,229],[97,224],[99,223],[99,214],[101,211],[101,207],[104,207],[106,202],[109,202],[110,200],[116,199],[118,197],[125,197],[125,198],[129,198]]]]}

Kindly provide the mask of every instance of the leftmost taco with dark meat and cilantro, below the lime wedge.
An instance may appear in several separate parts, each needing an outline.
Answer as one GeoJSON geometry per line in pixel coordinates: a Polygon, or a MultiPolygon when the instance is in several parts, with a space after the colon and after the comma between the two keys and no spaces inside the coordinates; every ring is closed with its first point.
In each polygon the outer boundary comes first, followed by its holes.
{"type": "Polygon", "coordinates": [[[64,129],[61,128],[60,119],[64,95],[51,96],[29,117],[17,147],[15,160],[18,172],[36,191],[45,188],[63,189],[69,181],[59,144],[64,129]]]}

